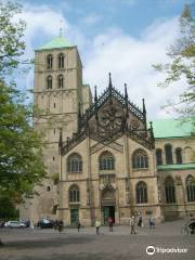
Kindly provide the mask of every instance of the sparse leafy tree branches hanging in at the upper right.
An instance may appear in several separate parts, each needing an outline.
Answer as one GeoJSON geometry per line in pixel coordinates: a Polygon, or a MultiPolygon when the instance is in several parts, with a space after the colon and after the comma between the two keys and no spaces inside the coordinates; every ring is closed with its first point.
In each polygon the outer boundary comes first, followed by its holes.
{"type": "MultiPolygon", "coordinates": [[[[170,63],[157,64],[154,67],[166,73],[166,79],[160,86],[170,86],[184,78],[186,90],[180,95],[182,105],[178,110],[195,123],[195,4],[185,4],[180,16],[180,34],[176,42],[169,47],[167,55],[170,63]]],[[[172,104],[176,105],[176,104],[172,104]]],[[[179,107],[179,106],[176,106],[179,107]]]]}

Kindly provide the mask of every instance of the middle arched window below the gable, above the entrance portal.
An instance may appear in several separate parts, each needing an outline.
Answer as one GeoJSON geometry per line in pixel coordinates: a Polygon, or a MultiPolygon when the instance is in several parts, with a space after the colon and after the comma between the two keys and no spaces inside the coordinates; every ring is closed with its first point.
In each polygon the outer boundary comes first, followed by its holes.
{"type": "Polygon", "coordinates": [[[100,170],[114,170],[115,169],[115,158],[110,152],[105,151],[100,155],[99,167],[100,167],[100,170]]]}

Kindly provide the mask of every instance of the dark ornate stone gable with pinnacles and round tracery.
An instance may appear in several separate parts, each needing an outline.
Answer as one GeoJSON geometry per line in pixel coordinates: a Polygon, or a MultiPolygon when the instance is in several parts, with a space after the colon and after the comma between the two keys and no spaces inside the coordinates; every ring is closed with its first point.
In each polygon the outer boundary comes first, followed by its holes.
{"type": "Polygon", "coordinates": [[[148,150],[154,148],[153,127],[151,125],[147,129],[146,126],[144,100],[141,110],[128,100],[127,86],[125,86],[125,95],[113,87],[109,74],[108,88],[100,98],[95,88],[94,103],[83,115],[79,113],[78,132],[61,144],[62,153],[66,154],[86,136],[108,145],[122,134],[127,134],[148,150]]]}

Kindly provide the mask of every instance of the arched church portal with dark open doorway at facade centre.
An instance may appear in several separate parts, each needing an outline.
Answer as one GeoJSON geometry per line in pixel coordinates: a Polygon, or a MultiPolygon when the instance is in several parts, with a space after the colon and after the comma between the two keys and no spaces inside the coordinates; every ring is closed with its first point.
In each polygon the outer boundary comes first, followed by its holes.
{"type": "Polygon", "coordinates": [[[107,220],[110,217],[115,222],[115,211],[116,211],[116,198],[115,188],[108,184],[104,187],[101,194],[101,206],[103,213],[103,222],[107,224],[107,220]]]}

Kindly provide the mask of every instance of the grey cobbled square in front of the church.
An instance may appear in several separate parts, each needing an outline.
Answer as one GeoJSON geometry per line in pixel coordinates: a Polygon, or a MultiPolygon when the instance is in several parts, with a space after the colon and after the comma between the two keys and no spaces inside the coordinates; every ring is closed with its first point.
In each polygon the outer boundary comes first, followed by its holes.
{"type": "Polygon", "coordinates": [[[194,260],[195,235],[181,234],[183,223],[166,222],[155,230],[144,226],[136,229],[135,235],[130,234],[130,226],[115,226],[113,233],[107,226],[101,226],[100,235],[94,227],[83,227],[80,233],[65,229],[61,234],[54,230],[0,229],[4,243],[0,247],[0,260],[194,260]],[[151,245],[156,249],[153,256],[146,253],[151,245]],[[178,247],[187,252],[157,252],[178,247]]]}

